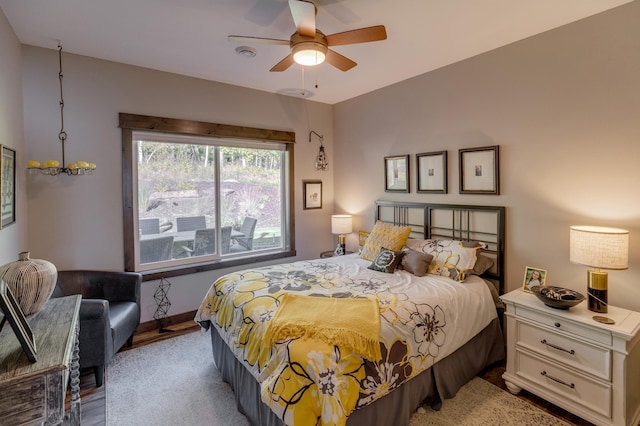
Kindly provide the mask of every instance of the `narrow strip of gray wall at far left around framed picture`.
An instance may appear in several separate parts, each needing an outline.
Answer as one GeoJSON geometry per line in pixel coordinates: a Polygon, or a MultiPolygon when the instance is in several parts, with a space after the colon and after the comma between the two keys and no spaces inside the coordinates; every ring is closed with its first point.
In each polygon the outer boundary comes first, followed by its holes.
{"type": "MultiPolygon", "coordinates": [[[[0,145],[24,157],[20,42],[0,10],[0,145]]],[[[18,260],[27,249],[26,188],[24,173],[16,174],[16,222],[0,230],[0,265],[18,260]]]]}

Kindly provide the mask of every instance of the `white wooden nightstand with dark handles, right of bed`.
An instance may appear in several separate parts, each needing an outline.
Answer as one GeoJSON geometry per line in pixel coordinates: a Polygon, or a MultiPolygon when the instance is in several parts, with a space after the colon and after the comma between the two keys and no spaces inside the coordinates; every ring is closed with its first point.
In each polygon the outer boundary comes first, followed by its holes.
{"type": "Polygon", "coordinates": [[[520,289],[506,306],[507,388],[526,389],[597,425],[640,422],[640,313],[609,306],[615,324],[583,302],[560,310],[520,289]]]}

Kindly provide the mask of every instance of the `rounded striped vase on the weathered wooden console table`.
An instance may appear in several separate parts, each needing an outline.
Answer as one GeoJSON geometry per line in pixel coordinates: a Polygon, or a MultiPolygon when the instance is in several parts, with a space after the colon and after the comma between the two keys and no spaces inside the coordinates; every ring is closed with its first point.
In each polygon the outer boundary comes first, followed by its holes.
{"type": "Polygon", "coordinates": [[[18,254],[18,260],[0,267],[4,280],[16,298],[22,313],[35,314],[51,297],[58,280],[58,270],[51,262],[30,259],[29,252],[18,254]]]}

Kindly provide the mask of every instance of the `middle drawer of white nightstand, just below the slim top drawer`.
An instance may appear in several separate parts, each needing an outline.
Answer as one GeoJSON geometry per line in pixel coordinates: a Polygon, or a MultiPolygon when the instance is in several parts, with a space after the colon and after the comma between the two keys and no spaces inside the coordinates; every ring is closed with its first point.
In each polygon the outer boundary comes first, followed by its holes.
{"type": "Polygon", "coordinates": [[[518,321],[516,344],[570,365],[585,373],[611,380],[611,351],[553,331],[518,321]]]}

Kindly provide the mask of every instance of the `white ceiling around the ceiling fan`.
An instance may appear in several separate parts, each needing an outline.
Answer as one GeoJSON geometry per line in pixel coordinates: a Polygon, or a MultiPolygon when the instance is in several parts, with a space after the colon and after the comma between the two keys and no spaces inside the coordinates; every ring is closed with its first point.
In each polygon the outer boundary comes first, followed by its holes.
{"type": "Polygon", "coordinates": [[[227,41],[288,40],[286,0],[0,0],[0,9],[24,44],[60,40],[65,52],[334,104],[630,1],[318,0],[325,34],[382,24],[388,39],[335,47],[358,63],[350,71],[325,63],[304,73],[269,72],[288,46],[256,44],[247,59],[227,41]]]}

